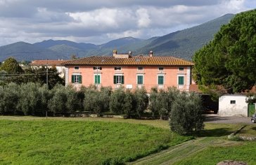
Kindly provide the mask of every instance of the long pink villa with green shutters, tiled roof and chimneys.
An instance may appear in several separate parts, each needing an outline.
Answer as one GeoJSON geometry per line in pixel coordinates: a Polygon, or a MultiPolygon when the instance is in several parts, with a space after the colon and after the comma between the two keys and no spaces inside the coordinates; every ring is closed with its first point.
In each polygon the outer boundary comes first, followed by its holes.
{"type": "Polygon", "coordinates": [[[74,87],[96,85],[113,87],[120,85],[127,89],[145,87],[150,92],[152,87],[167,89],[177,87],[188,91],[192,82],[192,62],[175,57],[118,55],[113,51],[112,57],[84,57],[68,62],[65,65],[65,83],[74,87]]]}

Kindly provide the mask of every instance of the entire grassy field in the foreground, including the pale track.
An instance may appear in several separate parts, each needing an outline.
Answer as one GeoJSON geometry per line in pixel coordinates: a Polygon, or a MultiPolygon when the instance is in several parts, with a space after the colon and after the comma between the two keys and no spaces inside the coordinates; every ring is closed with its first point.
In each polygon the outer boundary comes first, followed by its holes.
{"type": "MultiPolygon", "coordinates": [[[[193,141],[172,134],[167,120],[0,116],[0,125],[0,164],[101,164],[140,157],[132,164],[256,164],[256,142],[227,140],[243,124],[206,123],[193,141]],[[172,147],[150,155],[167,146],[172,147]]],[[[255,130],[251,124],[239,135],[256,136],[255,130]]]]}

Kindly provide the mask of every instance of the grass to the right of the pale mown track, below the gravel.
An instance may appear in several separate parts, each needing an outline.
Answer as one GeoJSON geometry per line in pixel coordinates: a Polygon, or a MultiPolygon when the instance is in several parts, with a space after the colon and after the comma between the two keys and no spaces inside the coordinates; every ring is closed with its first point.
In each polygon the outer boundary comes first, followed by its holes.
{"type": "MultiPolygon", "coordinates": [[[[226,135],[241,128],[242,126],[243,124],[206,124],[205,136],[209,138],[216,135],[218,139],[226,139],[226,135]]],[[[247,125],[237,135],[256,136],[256,124],[247,125]]],[[[201,134],[201,136],[203,136],[203,134],[201,134]]],[[[176,162],[175,164],[217,164],[224,160],[236,160],[238,162],[256,164],[255,146],[256,141],[238,141],[236,143],[228,142],[227,144],[210,145],[205,150],[188,157],[184,157],[184,159],[176,162]]]]}

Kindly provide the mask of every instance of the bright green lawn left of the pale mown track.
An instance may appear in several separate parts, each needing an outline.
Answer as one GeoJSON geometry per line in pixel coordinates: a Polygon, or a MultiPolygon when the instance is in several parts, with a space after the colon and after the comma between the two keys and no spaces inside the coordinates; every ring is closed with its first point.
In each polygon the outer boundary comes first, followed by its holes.
{"type": "Polygon", "coordinates": [[[118,120],[3,118],[0,117],[0,164],[128,162],[191,138],[172,134],[169,129],[118,120]]]}

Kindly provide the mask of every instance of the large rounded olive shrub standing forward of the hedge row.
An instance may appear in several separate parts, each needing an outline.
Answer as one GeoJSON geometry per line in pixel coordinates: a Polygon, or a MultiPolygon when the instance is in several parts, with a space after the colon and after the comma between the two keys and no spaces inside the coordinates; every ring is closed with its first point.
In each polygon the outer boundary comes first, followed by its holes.
{"type": "Polygon", "coordinates": [[[175,99],[169,115],[169,125],[178,134],[193,134],[203,129],[202,101],[198,94],[182,92],[175,99]]]}

